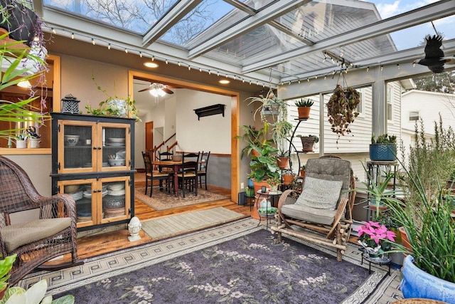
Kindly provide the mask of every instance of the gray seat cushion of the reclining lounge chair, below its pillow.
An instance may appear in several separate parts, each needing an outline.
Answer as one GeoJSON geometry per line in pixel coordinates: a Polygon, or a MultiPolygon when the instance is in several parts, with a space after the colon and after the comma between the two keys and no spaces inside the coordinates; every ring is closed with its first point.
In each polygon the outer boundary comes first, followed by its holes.
{"type": "Polygon", "coordinates": [[[336,210],[317,209],[309,206],[289,204],[282,206],[282,214],[302,221],[331,225],[335,219],[336,210]]]}

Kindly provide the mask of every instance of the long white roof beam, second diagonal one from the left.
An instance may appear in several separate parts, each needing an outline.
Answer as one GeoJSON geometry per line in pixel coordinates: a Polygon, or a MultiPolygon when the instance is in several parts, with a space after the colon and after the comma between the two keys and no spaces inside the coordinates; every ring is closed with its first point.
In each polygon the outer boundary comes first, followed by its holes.
{"type": "MultiPolygon", "coordinates": [[[[454,0],[455,1],[455,0],[454,0]]],[[[293,9],[296,9],[302,5],[311,2],[310,0],[280,0],[275,1],[272,5],[267,6],[265,9],[258,11],[254,16],[250,16],[247,19],[235,24],[226,29],[223,33],[218,36],[211,38],[205,43],[201,43],[196,48],[193,48],[188,53],[188,59],[193,59],[195,57],[201,56],[203,53],[213,50],[218,46],[223,45],[224,43],[231,41],[238,36],[241,36],[247,31],[252,31],[263,24],[272,21],[273,19],[286,14],[293,9]]]]}

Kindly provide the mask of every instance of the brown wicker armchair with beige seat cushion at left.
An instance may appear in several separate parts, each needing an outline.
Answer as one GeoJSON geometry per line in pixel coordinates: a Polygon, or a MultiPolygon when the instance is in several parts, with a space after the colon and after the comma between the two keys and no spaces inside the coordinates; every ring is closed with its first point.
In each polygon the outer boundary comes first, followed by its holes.
{"type": "Polygon", "coordinates": [[[17,253],[9,283],[16,284],[45,261],[71,253],[71,262],[50,268],[80,265],[76,249],[76,206],[68,194],[43,197],[18,164],[0,156],[0,253],[17,253]],[[36,219],[20,223],[19,211],[36,219]],[[12,219],[11,219],[12,218],[12,219]]]}

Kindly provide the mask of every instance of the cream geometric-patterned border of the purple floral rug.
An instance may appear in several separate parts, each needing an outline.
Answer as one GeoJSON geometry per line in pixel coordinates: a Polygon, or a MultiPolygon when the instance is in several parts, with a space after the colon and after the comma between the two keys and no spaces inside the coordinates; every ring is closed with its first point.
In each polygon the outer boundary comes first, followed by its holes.
{"type": "MultiPolygon", "coordinates": [[[[31,273],[26,278],[23,278],[22,281],[19,281],[18,286],[28,288],[33,283],[47,279],[49,286],[47,294],[55,295],[65,290],[71,290],[88,283],[111,278],[112,276],[122,275],[139,268],[152,266],[171,258],[214,246],[218,243],[237,239],[240,236],[252,234],[260,229],[266,229],[263,225],[257,225],[258,221],[255,219],[239,219],[228,224],[194,231],[183,236],[161,239],[153,243],[146,243],[137,247],[126,248],[120,251],[106,253],[102,256],[89,258],[82,266],[53,272],[40,271],[31,273]]],[[[318,246],[291,236],[284,237],[336,257],[336,251],[333,251],[331,248],[318,246]]],[[[343,260],[353,263],[356,266],[368,268],[368,263],[360,264],[361,256],[358,246],[351,243],[348,244],[348,249],[343,255],[343,260]]],[[[371,269],[372,273],[367,281],[360,285],[358,290],[348,296],[348,298],[343,300],[343,303],[375,303],[375,300],[380,298],[387,285],[397,276],[396,271],[392,271],[391,276],[388,276],[385,268],[373,263],[371,269]]]]}

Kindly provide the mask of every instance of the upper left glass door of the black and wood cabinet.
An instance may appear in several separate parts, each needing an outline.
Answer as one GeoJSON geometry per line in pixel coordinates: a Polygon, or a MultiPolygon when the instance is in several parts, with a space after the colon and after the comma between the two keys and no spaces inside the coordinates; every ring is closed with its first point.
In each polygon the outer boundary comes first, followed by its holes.
{"type": "Polygon", "coordinates": [[[59,173],[94,171],[97,154],[94,126],[93,122],[60,122],[59,173]]]}

